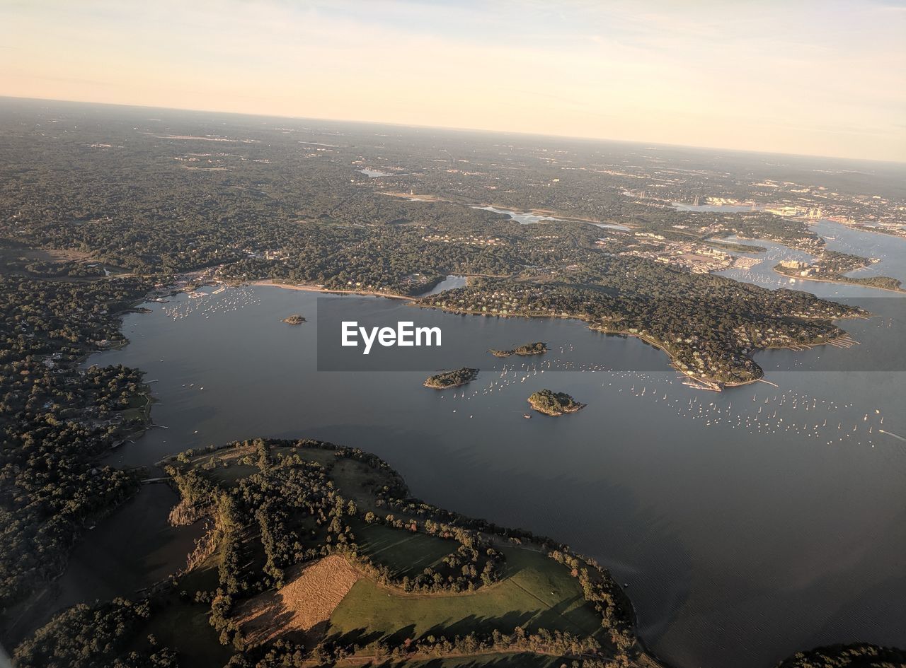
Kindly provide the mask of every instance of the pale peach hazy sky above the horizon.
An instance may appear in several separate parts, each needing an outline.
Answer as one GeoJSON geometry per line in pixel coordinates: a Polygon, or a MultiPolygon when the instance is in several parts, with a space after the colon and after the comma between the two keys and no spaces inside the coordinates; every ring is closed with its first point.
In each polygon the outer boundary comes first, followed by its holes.
{"type": "Polygon", "coordinates": [[[906,161],[906,0],[0,0],[0,95],[906,161]]]}

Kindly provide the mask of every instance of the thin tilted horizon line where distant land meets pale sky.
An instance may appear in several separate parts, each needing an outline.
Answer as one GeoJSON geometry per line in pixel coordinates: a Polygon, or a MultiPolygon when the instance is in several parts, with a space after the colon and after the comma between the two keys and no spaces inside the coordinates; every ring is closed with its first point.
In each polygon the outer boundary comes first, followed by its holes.
{"type": "Polygon", "coordinates": [[[124,102],[99,102],[95,100],[70,100],[70,99],[61,99],[61,98],[32,98],[32,97],[23,97],[18,95],[5,95],[0,93],[0,100],[27,100],[27,101],[37,101],[37,102],[63,102],[63,103],[72,103],[72,104],[85,104],[85,105],[98,105],[101,107],[125,107],[127,109],[149,109],[149,110],[163,110],[163,111],[188,111],[190,113],[209,113],[209,114],[224,114],[227,116],[246,116],[251,118],[258,119],[294,119],[294,120],[315,120],[315,121],[326,121],[330,123],[352,123],[360,125],[376,125],[376,126],[390,126],[393,128],[408,128],[408,129],[435,129],[435,130],[450,130],[455,132],[482,132],[487,134],[502,134],[502,135],[514,135],[519,137],[535,137],[535,138],[551,138],[551,139],[579,139],[583,141],[601,141],[609,142],[613,144],[639,144],[656,147],[665,147],[665,148],[692,148],[704,151],[731,151],[736,153],[748,153],[757,156],[785,156],[785,157],[805,157],[805,158],[821,158],[821,159],[830,159],[830,160],[846,160],[850,162],[863,162],[863,163],[876,163],[882,165],[898,165],[906,166],[906,158],[902,160],[884,160],[881,158],[875,157],[843,157],[843,156],[831,156],[831,155],[822,155],[822,154],[812,154],[812,153],[778,153],[776,151],[759,151],[752,148],[730,148],[730,147],[711,147],[711,146],[695,146],[692,144],[670,144],[666,142],[652,142],[646,141],[644,139],[615,139],[609,137],[587,137],[583,135],[558,135],[558,134],[544,134],[541,132],[519,132],[515,130],[505,130],[505,129],[487,129],[487,128],[461,128],[454,126],[439,126],[439,125],[420,125],[412,123],[398,123],[385,120],[365,120],[365,119],[328,119],[321,117],[313,116],[287,116],[285,114],[263,114],[263,113],[251,113],[247,111],[226,111],[226,110],[211,110],[211,109],[195,109],[190,107],[162,107],[154,106],[148,104],[127,104],[124,102]]]}

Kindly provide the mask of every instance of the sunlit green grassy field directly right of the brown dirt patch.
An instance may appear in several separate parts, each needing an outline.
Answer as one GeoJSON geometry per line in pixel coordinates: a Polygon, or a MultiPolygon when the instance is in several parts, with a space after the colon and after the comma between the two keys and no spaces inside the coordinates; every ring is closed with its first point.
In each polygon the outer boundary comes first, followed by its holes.
{"type": "Polygon", "coordinates": [[[505,549],[506,578],[471,594],[408,595],[361,579],[331,616],[329,633],[359,642],[422,635],[506,633],[559,628],[576,635],[601,631],[578,582],[553,559],[526,549],[505,549]]]}

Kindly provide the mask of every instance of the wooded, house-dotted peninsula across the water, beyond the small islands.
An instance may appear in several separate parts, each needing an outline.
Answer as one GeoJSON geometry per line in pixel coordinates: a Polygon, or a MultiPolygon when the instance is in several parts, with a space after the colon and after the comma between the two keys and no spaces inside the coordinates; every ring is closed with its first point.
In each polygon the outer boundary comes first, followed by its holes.
{"type": "Polygon", "coordinates": [[[711,389],[763,377],[752,358],[757,349],[822,345],[845,336],[833,320],[868,315],[805,292],[768,291],[710,274],[672,272],[669,282],[655,287],[651,279],[662,271],[657,264],[642,272],[626,263],[615,274],[612,265],[621,260],[601,262],[597,273],[591,261],[586,267],[597,285],[477,279],[425,297],[419,306],[486,317],[583,320],[596,331],[651,343],[680,373],[711,389]],[[699,318],[705,313],[711,325],[699,318]]]}

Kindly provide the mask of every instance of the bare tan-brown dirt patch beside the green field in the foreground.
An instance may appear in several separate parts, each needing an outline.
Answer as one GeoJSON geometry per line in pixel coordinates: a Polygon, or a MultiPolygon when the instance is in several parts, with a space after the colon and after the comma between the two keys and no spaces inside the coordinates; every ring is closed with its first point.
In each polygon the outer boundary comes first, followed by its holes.
{"type": "Polygon", "coordinates": [[[345,558],[333,555],[287,570],[287,582],[236,610],[242,635],[252,644],[292,632],[305,634],[330,619],[343,596],[361,577],[345,558]]]}

